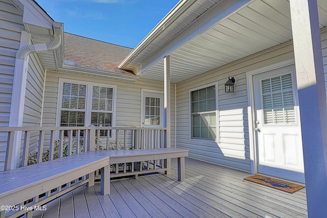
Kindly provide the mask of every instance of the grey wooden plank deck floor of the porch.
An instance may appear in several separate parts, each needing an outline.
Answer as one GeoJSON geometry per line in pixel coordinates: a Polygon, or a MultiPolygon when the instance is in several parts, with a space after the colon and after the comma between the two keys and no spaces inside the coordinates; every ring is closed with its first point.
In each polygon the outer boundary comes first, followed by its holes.
{"type": "Polygon", "coordinates": [[[111,181],[110,195],[100,183],[82,186],[36,211],[33,217],[307,217],[306,189],[293,194],[243,178],[247,173],[186,158],[186,178],[171,175],[111,181]]]}

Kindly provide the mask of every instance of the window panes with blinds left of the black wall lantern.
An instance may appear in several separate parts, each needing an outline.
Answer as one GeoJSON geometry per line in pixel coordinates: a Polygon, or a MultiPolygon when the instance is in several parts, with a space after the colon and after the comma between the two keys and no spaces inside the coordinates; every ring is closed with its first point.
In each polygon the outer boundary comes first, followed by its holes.
{"type": "Polygon", "coordinates": [[[217,140],[217,85],[191,90],[191,138],[217,140]]]}

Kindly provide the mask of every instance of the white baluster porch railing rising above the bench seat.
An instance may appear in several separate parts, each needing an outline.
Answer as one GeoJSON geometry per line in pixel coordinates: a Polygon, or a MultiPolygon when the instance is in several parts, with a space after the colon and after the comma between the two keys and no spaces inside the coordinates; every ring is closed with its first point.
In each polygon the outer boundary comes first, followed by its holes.
{"type": "Polygon", "coordinates": [[[15,161],[12,157],[16,134],[21,142],[19,167],[83,151],[166,147],[166,128],[1,127],[0,143],[6,144],[4,171],[10,170],[15,161]]]}

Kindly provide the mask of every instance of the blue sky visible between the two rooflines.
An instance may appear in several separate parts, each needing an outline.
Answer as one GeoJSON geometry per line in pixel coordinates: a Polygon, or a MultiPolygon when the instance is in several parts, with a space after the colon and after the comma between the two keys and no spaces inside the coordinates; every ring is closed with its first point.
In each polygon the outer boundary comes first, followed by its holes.
{"type": "Polygon", "coordinates": [[[64,31],[134,48],[178,0],[36,0],[64,31]]]}

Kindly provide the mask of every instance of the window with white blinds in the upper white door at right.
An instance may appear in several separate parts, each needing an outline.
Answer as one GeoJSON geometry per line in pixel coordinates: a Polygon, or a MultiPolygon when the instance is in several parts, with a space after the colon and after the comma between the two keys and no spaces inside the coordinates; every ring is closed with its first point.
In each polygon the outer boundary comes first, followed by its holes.
{"type": "Polygon", "coordinates": [[[262,102],[265,124],[295,123],[291,74],[263,80],[262,102]]]}

